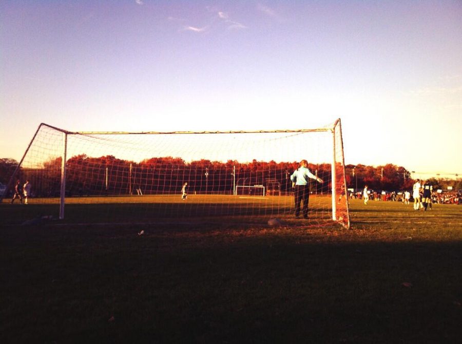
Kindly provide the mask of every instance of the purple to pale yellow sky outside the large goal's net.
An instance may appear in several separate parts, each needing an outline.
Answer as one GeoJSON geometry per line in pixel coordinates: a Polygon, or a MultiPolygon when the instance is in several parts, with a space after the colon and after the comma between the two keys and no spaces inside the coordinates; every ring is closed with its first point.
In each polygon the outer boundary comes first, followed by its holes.
{"type": "Polygon", "coordinates": [[[0,114],[0,157],[17,160],[42,122],[229,131],[341,118],[346,164],[462,174],[462,2],[3,0],[0,114]]]}

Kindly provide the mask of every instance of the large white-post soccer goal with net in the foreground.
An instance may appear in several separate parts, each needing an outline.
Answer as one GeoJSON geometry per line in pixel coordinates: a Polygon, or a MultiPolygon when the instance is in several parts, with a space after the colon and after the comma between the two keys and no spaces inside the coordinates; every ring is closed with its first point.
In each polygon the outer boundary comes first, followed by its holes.
{"type": "Polygon", "coordinates": [[[10,193],[26,179],[29,204],[49,204],[67,221],[277,217],[294,226],[350,226],[348,200],[338,197],[347,189],[340,119],[315,129],[245,132],[78,132],[41,124],[10,193]],[[291,175],[301,159],[323,180],[312,180],[309,220],[294,217],[291,175]]]}

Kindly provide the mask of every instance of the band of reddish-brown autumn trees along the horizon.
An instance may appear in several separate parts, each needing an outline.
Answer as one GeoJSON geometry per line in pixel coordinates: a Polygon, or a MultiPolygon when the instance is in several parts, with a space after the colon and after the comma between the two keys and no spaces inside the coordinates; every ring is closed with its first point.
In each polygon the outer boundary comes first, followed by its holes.
{"type": "MultiPolygon", "coordinates": [[[[0,159],[0,183],[7,184],[18,162],[0,159]]],[[[76,155],[66,161],[66,193],[68,195],[102,194],[164,194],[178,192],[187,182],[190,192],[232,193],[235,185],[263,185],[267,190],[290,191],[290,176],[298,168],[297,161],[276,163],[257,161],[240,163],[236,160],[187,163],[178,157],[152,157],[140,162],[119,159],[112,155],[89,157],[76,155]]],[[[322,178],[320,189],[331,189],[331,164],[310,164],[310,170],[322,178]]],[[[336,168],[337,174],[342,171],[336,168]]],[[[31,180],[36,196],[58,196],[61,184],[61,157],[50,159],[40,168],[21,167],[15,179],[31,180]]],[[[393,164],[383,166],[346,165],[348,188],[361,189],[368,185],[375,190],[409,190],[414,180],[410,172],[393,164]]],[[[462,180],[430,178],[434,188],[462,189],[462,180]]]]}

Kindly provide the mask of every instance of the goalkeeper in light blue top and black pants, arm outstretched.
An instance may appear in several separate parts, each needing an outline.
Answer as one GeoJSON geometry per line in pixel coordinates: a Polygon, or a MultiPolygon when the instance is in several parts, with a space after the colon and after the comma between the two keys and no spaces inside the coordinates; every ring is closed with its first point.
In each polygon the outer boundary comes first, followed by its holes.
{"type": "Polygon", "coordinates": [[[322,183],[322,179],[316,177],[308,169],[308,161],[301,160],[298,169],[291,175],[292,187],[295,188],[295,217],[300,216],[300,204],[303,200],[303,218],[308,218],[308,203],[310,201],[310,183],[308,178],[322,183]]]}

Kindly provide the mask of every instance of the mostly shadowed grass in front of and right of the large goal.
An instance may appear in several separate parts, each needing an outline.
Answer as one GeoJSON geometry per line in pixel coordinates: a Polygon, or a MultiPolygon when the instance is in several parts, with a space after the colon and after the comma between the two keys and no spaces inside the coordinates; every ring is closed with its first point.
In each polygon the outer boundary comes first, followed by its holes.
{"type": "Polygon", "coordinates": [[[2,226],[0,341],[460,342],[462,208],[351,208],[351,230],[2,226]]]}

